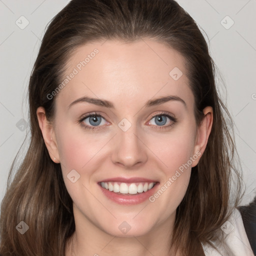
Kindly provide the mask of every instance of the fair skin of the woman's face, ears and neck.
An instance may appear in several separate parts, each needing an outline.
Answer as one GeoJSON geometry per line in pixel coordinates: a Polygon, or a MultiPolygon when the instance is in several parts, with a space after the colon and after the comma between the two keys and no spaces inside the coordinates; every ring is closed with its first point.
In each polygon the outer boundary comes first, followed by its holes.
{"type": "MultiPolygon", "coordinates": [[[[167,256],[175,211],[186,192],[191,167],[198,163],[205,149],[212,108],[203,109],[203,121],[197,126],[185,59],[174,49],[149,38],[132,43],[87,43],[72,54],[64,76],[94,48],[99,50],[95,57],[57,94],[53,122],[47,122],[42,107],[37,109],[50,157],[60,162],[73,200],[76,230],[66,245],[65,255],[71,255],[72,240],[77,256],[167,256]],[[176,81],[169,75],[174,67],[183,73],[176,81]],[[115,108],[88,102],[68,107],[85,95],[109,100],[115,108]],[[182,98],[186,106],[177,100],[143,106],[149,99],[166,95],[182,98]],[[104,116],[95,126],[100,128],[85,129],[78,120],[93,111],[104,116]],[[173,123],[166,117],[164,125],[157,125],[157,117],[153,116],[162,111],[174,115],[177,121],[173,123]],[[123,118],[131,123],[125,132],[118,126],[123,118]],[[155,129],[157,126],[160,128],[155,129]],[[120,205],[105,197],[97,184],[118,176],[150,178],[158,180],[161,186],[196,152],[201,155],[154,202],[120,205]],[[74,183],[67,178],[72,169],[80,174],[74,183]],[[131,227],[126,234],[118,228],[123,221],[131,227]]],[[[93,127],[89,118],[83,123],[93,127]]]]}

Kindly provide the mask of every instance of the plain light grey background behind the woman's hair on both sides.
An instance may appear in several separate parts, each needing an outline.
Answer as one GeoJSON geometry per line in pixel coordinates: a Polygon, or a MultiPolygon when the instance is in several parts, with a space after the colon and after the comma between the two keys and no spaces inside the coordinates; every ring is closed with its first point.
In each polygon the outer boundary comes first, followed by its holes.
{"type": "MultiPolygon", "coordinates": [[[[11,162],[29,133],[27,85],[44,28],[67,3],[0,0],[0,201],[11,162]],[[26,20],[29,23],[23,28],[26,20]]],[[[226,91],[224,87],[219,90],[236,125],[236,146],[246,184],[241,204],[245,204],[256,194],[256,0],[178,3],[206,32],[210,54],[224,79],[226,91]]]]}

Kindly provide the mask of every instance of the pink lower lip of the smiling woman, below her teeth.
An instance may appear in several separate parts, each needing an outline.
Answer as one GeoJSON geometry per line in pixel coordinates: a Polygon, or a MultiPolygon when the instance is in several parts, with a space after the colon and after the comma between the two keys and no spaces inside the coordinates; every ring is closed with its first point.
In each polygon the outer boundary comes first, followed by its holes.
{"type": "Polygon", "coordinates": [[[146,192],[137,193],[137,194],[117,194],[113,191],[109,191],[108,189],[103,188],[100,184],[98,184],[101,188],[101,191],[103,194],[109,198],[110,200],[119,203],[119,204],[138,204],[151,196],[155,190],[157,189],[157,186],[159,185],[159,182],[157,182],[151,189],[147,190],[146,192]]]}

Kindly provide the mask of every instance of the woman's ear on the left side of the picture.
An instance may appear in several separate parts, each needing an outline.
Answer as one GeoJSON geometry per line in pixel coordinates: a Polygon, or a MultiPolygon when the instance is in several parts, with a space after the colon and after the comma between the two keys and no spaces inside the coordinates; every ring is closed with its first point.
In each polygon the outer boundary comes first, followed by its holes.
{"type": "Polygon", "coordinates": [[[59,163],[59,154],[55,132],[52,124],[47,120],[45,116],[45,110],[42,106],[37,108],[36,115],[50,158],[53,162],[59,163]]]}

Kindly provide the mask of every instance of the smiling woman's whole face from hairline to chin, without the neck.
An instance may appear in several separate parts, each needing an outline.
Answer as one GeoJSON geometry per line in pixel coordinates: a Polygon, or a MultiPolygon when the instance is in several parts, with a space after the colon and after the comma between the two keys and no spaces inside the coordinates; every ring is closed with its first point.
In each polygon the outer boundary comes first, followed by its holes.
{"type": "Polygon", "coordinates": [[[184,66],[177,51],[150,39],[96,41],[72,54],[51,94],[56,148],[48,149],[76,225],[138,236],[173,224],[204,144],[184,66]]]}

